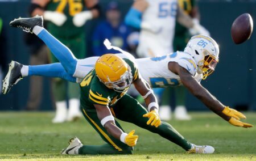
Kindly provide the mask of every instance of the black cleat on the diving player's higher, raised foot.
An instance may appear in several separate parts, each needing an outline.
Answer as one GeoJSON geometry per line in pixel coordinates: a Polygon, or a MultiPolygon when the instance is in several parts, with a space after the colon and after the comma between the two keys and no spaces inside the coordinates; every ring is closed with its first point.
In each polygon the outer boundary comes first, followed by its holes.
{"type": "Polygon", "coordinates": [[[43,16],[34,16],[32,18],[18,18],[10,22],[11,27],[22,28],[25,32],[33,33],[35,26],[43,27],[43,16]]]}

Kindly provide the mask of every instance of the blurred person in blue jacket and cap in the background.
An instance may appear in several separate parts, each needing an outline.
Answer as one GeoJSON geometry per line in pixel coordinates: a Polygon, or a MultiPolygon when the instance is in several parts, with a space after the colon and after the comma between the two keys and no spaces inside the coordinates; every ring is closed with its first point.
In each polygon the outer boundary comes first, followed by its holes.
{"type": "Polygon", "coordinates": [[[127,50],[127,37],[130,29],[122,22],[121,12],[116,2],[110,2],[106,9],[106,20],[100,22],[93,33],[94,56],[106,53],[117,53],[117,50],[108,50],[103,44],[105,39],[121,49],[127,50]]]}

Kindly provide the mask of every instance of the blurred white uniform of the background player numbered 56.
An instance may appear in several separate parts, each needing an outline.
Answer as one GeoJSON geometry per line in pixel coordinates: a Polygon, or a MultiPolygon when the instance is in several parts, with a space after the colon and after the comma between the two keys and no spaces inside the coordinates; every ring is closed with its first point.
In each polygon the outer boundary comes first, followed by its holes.
{"type": "Polygon", "coordinates": [[[141,29],[137,53],[140,57],[163,56],[173,52],[173,39],[177,14],[177,0],[146,0],[142,23],[150,24],[158,32],[141,29]]]}

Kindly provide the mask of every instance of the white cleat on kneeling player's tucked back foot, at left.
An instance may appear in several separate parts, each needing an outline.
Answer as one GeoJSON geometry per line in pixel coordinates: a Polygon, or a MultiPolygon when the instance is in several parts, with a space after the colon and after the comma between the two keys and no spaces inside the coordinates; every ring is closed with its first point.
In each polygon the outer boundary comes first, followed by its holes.
{"type": "Polygon", "coordinates": [[[78,154],[78,150],[80,147],[82,147],[82,143],[79,138],[72,138],[69,140],[68,147],[66,149],[63,149],[60,154],[78,154]]]}

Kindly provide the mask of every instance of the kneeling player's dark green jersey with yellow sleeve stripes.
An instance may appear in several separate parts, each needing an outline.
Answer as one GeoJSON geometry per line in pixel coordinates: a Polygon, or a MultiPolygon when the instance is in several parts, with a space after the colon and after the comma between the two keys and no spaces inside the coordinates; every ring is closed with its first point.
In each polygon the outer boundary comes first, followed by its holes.
{"type": "MultiPolygon", "coordinates": [[[[139,75],[137,66],[126,58],[123,58],[123,60],[131,67],[131,74],[133,75],[133,81],[135,81],[139,75]]],[[[122,92],[117,92],[106,87],[104,83],[100,82],[94,69],[82,80],[80,88],[80,104],[83,109],[95,109],[93,104],[108,105],[110,107],[117,103],[129,90],[129,88],[126,88],[122,92]]]]}

